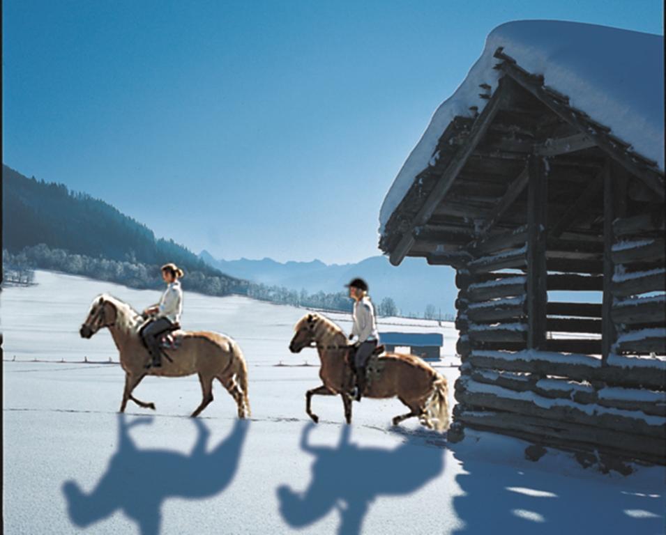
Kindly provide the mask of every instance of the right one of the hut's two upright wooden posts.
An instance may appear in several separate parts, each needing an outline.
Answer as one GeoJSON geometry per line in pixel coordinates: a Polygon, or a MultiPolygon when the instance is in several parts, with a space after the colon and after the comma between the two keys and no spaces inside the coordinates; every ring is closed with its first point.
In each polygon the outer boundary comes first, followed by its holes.
{"type": "Polygon", "coordinates": [[[601,364],[606,365],[610,350],[617,338],[612,318],[613,310],[613,221],[626,215],[626,173],[606,159],[603,171],[603,304],[601,310],[601,364]]]}

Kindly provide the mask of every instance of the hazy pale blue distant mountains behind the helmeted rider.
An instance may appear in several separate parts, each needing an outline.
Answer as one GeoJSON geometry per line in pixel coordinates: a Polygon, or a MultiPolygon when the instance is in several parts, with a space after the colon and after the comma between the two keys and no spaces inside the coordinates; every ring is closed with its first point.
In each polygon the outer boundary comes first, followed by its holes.
{"type": "Polygon", "coordinates": [[[391,297],[402,314],[422,316],[427,304],[432,304],[438,315],[441,310],[442,317],[455,312],[455,272],[450,267],[427,265],[423,258],[405,258],[398,267],[391,265],[386,256],[331,265],[319,260],[280,263],[271,258],[226,261],[213,258],[205,250],[199,258],[232,277],[309,293],[345,290],[351,279],[362,277],[368,281],[375,303],[391,297]]]}

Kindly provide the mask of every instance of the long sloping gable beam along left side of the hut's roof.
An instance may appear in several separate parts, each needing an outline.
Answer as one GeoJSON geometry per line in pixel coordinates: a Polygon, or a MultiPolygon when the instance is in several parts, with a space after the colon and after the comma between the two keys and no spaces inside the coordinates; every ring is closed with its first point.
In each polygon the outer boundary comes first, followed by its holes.
{"type": "Polygon", "coordinates": [[[458,173],[460,173],[465,162],[467,162],[469,155],[474,151],[483,137],[483,134],[485,134],[490,126],[490,123],[492,123],[495,114],[497,114],[497,111],[502,105],[504,105],[506,100],[507,93],[504,91],[504,83],[500,79],[492,98],[490,98],[481,114],[471,126],[467,141],[458,148],[457,152],[446,166],[446,169],[444,169],[444,172],[441,173],[441,177],[437,180],[434,189],[427,196],[427,199],[425,199],[425,203],[423,203],[421,210],[418,210],[416,217],[414,217],[409,224],[409,228],[407,228],[407,231],[402,234],[402,238],[400,238],[398,245],[396,245],[395,249],[391,252],[391,256],[389,257],[391,264],[399,265],[400,262],[402,262],[402,259],[407,255],[411,246],[414,245],[412,230],[415,226],[423,225],[428,219],[430,219],[432,212],[437,208],[441,199],[444,199],[446,192],[451,189],[451,185],[453,185],[458,173]]]}

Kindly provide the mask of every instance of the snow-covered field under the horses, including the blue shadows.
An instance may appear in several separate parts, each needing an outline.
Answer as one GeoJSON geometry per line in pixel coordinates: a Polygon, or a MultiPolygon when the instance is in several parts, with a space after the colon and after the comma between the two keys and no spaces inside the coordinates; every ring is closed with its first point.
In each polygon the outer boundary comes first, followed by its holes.
{"type": "MultiPolygon", "coordinates": [[[[158,293],[50,272],[36,280],[0,293],[7,534],[665,532],[660,467],[604,475],[554,451],[531,463],[526,444],[485,433],[447,445],[413,421],[392,428],[404,412],[395,400],[355,404],[345,426],[338,398],[315,398],[321,422],[311,424],[303,394],[318,369],[302,364],[317,356],[287,349],[305,313],[292,307],[186,294],[186,328],[220,330],[243,348],[250,421],[236,421],[219,385],[202,418],[186,417],[200,401],[195,377],[147,378],[135,394],[156,412],[130,405],[121,417],[123,373],[98,363],[117,360],[109,334],[77,330],[98,293],[137,309],[158,293]]],[[[452,398],[453,327],[386,323],[444,334],[437,366],[452,398]]]]}

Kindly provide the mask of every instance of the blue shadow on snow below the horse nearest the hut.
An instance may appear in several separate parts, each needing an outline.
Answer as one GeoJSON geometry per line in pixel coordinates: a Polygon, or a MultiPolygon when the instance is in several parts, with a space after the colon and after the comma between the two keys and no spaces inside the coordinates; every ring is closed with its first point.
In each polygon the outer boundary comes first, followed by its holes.
{"type": "Polygon", "coordinates": [[[277,490],[282,518],[292,527],[317,522],[335,508],[341,517],[338,534],[359,534],[373,499],[414,493],[444,471],[440,447],[409,440],[395,449],[359,447],[349,442],[351,426],[342,427],[338,447],[312,446],[313,428],[310,423],[301,434],[301,449],[315,456],[310,486],[303,492],[284,485],[277,490]]]}

